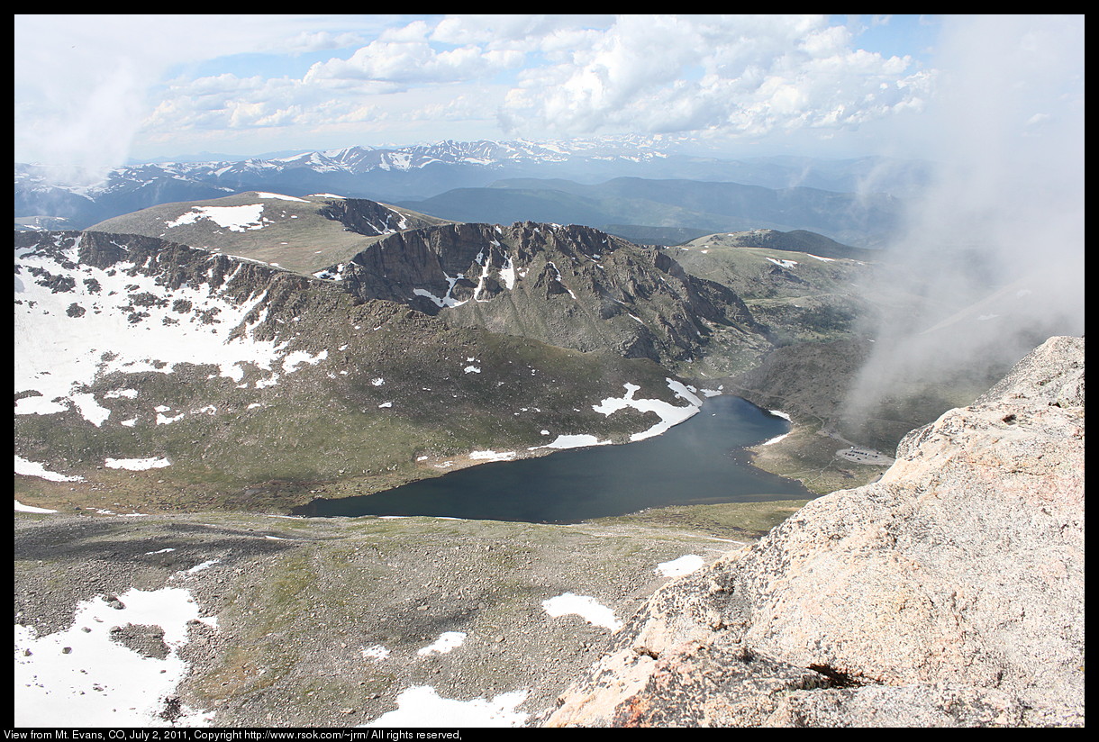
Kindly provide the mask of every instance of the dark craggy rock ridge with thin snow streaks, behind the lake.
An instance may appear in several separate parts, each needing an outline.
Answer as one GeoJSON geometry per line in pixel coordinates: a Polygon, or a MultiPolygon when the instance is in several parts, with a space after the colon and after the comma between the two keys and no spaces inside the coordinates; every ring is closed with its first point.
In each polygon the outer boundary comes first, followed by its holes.
{"type": "Polygon", "coordinates": [[[715,332],[769,347],[744,302],[670,257],[587,226],[448,224],[388,236],[318,275],[360,299],[578,351],[660,363],[697,357],[715,332]]]}

